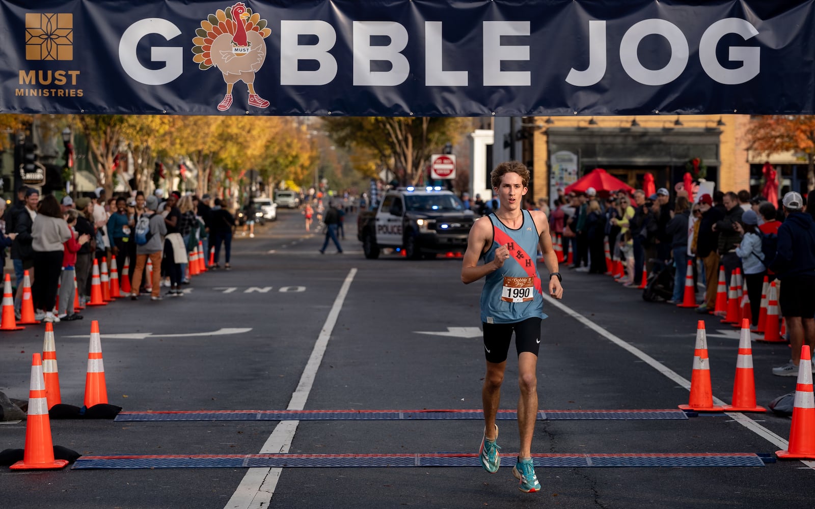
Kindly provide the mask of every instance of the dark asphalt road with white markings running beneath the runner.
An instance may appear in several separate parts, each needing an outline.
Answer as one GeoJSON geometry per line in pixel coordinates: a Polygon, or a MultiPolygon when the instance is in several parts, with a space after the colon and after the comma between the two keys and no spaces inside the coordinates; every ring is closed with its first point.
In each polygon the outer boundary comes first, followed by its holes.
{"type": "MultiPolygon", "coordinates": [[[[347,222],[345,253],[330,254],[329,247],[320,255],[321,236],[306,234],[297,211],[281,210],[279,221],[259,226],[254,239],[236,237],[233,270],[194,278],[183,298],[117,301],[86,310],[84,320],[55,324],[63,402],[81,406],[87,334],[97,319],[108,398],[124,411],[478,409],[483,347],[463,327],[480,325],[481,283],[460,283],[459,259],[366,260],[355,217],[347,222]],[[222,329],[235,333],[206,335],[222,329]]],[[[562,272],[562,305],[545,305],[541,408],[676,409],[686,403],[688,390],[677,380],[690,380],[699,315],[645,303],[639,292],[605,276],[562,272]]],[[[705,321],[713,394],[729,402],[738,333],[716,318],[705,321]]],[[[31,355],[41,348],[42,326],[0,333],[2,392],[28,397],[31,355]]],[[[787,358],[784,345],[753,344],[760,404],[795,390],[795,378],[770,373],[787,358]]],[[[515,407],[517,375],[511,350],[504,409],[515,407]]],[[[482,422],[51,420],[51,429],[55,445],[83,455],[416,454],[478,452],[482,422]]],[[[772,434],[786,439],[789,429],[789,419],[774,415],[721,413],[687,420],[539,420],[532,450],[773,453],[772,434]]],[[[24,437],[24,422],[0,424],[0,449],[20,448],[24,437]]],[[[506,456],[517,450],[514,421],[500,423],[499,444],[506,456]]],[[[0,507],[709,508],[780,501],[813,507],[812,466],[539,467],[539,494],[518,491],[511,467],[494,475],[478,467],[2,468],[0,507]]]]}

